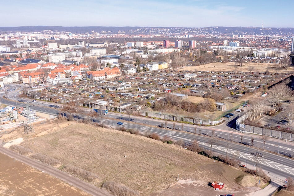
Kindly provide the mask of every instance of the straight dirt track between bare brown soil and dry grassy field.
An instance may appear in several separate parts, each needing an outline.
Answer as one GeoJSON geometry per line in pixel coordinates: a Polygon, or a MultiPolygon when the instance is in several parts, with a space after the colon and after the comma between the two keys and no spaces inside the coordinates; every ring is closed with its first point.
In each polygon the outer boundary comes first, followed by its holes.
{"type": "Polygon", "coordinates": [[[20,155],[14,151],[11,151],[9,149],[6,149],[4,147],[0,147],[0,152],[13,158],[13,159],[16,159],[20,162],[23,162],[25,164],[28,164],[36,169],[39,169],[40,171],[44,171],[45,173],[48,173],[49,175],[52,175],[60,180],[63,180],[67,183],[69,183],[70,185],[73,185],[89,194],[92,194],[92,195],[97,195],[97,196],[104,196],[104,195],[111,195],[107,192],[105,192],[104,190],[101,190],[99,189],[98,187],[96,186],[93,186],[93,185],[90,185],[82,180],[80,180],[79,178],[76,178],[76,177],[73,177],[73,176],[70,176],[56,168],[52,168],[46,164],[43,164],[39,161],[36,161],[36,160],[32,160],[26,156],[23,156],[23,155],[20,155]]]}

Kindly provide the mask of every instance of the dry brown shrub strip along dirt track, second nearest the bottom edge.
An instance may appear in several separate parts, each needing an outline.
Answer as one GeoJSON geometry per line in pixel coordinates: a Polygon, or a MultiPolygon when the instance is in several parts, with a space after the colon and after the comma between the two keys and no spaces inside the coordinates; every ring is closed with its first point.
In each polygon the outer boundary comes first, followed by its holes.
{"type": "Polygon", "coordinates": [[[88,172],[87,170],[75,167],[73,165],[64,165],[61,170],[66,173],[70,173],[75,177],[81,178],[87,182],[101,181],[101,178],[97,174],[88,172]]]}

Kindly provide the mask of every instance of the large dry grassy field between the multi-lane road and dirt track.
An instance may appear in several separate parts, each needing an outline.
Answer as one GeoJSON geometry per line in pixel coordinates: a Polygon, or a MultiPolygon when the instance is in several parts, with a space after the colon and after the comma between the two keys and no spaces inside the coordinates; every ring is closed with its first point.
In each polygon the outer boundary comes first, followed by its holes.
{"type": "Polygon", "coordinates": [[[33,153],[96,173],[103,181],[119,182],[142,195],[215,196],[238,192],[245,196],[256,190],[235,183],[237,177],[246,175],[241,170],[143,136],[68,121],[34,128],[35,133],[28,136],[21,129],[15,130],[3,142],[23,137],[21,145],[33,153]],[[192,179],[193,185],[176,183],[177,179],[192,179]],[[225,183],[217,193],[207,186],[215,180],[225,183]],[[195,194],[199,191],[203,194],[195,194]]]}

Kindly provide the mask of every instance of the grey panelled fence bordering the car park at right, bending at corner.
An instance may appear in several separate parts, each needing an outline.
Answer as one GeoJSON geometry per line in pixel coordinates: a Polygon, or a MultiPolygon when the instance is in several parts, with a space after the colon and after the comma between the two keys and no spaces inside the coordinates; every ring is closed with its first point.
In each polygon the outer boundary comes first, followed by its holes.
{"type": "Polygon", "coordinates": [[[284,139],[286,141],[287,140],[294,141],[294,134],[292,133],[242,124],[241,122],[243,122],[247,117],[248,117],[248,114],[246,113],[236,120],[236,129],[238,131],[242,131],[242,132],[245,131],[248,133],[253,133],[258,135],[267,135],[270,137],[284,139]]]}

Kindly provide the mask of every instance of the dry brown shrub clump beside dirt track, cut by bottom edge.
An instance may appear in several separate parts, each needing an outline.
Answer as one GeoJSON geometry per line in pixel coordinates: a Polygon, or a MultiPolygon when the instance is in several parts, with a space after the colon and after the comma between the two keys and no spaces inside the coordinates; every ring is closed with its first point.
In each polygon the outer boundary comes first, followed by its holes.
{"type": "Polygon", "coordinates": [[[102,188],[108,190],[111,194],[115,196],[137,196],[139,195],[136,191],[130,188],[120,185],[113,181],[106,181],[103,183],[102,188]]]}

